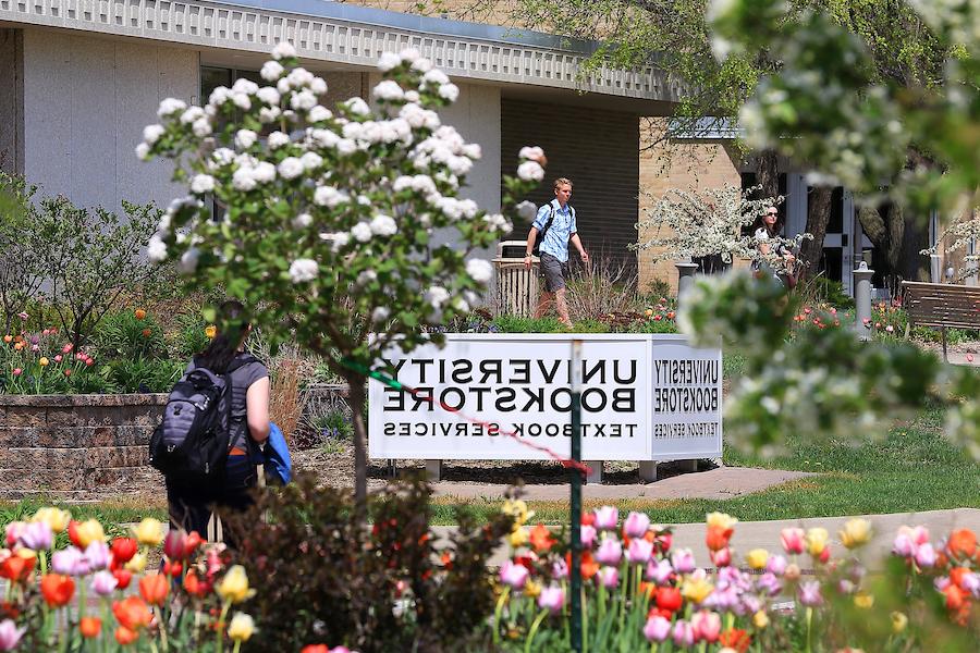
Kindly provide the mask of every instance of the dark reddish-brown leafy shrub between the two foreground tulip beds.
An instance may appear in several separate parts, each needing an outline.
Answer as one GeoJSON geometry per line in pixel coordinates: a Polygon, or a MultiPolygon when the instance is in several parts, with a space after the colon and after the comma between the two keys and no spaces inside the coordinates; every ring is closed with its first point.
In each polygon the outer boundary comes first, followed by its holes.
{"type": "Polygon", "coordinates": [[[418,478],[371,493],[368,509],[370,528],[355,517],[350,491],[299,475],[229,518],[238,562],[267,579],[248,604],[261,615],[253,650],[343,642],[362,653],[434,653],[471,643],[493,609],[486,565],[511,518],[478,525],[461,512],[458,533],[437,545],[429,488],[418,478]]]}

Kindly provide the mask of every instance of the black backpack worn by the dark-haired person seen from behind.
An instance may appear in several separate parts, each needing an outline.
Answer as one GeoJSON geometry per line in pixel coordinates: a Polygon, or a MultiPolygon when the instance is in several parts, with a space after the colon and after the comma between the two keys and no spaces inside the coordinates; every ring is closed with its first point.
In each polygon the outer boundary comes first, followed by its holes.
{"type": "Polygon", "coordinates": [[[170,392],[149,444],[149,461],[169,479],[211,484],[222,478],[232,435],[231,373],[257,360],[238,356],[224,374],[195,367],[170,392]]]}

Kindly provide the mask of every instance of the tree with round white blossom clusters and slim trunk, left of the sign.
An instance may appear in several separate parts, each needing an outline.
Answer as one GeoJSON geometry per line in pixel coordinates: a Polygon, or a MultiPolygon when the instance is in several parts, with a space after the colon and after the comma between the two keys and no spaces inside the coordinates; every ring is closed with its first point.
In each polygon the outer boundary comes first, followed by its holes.
{"type": "MultiPolygon", "coordinates": [[[[502,214],[458,197],[480,147],[436,112],[458,88],[415,50],[385,53],[378,67],[373,108],[352,98],[331,111],[320,103],[327,83],[279,44],[261,69],[268,86],[238,79],[205,107],[166,99],[161,124],[136,148],[145,160],[173,159],[174,178],[189,186],[149,258],[176,260],[191,287],[223,287],[272,338],[297,338],[350,384],[359,505],[369,370],[391,346],[438,342],[427,325],[479,301],[493,270],[469,255],[511,231],[502,214]],[[433,244],[437,230],[452,230],[454,243],[433,244]]],[[[504,206],[543,178],[540,150],[522,156],[504,206]]]]}

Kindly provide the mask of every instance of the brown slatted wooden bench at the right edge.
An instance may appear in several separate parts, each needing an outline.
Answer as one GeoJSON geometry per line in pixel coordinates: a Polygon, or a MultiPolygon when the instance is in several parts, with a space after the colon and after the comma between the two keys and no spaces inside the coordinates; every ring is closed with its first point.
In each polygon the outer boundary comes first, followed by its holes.
{"type": "Polygon", "coordinates": [[[909,326],[939,326],[947,362],[946,329],[980,329],[980,287],[903,281],[902,291],[909,326]]]}

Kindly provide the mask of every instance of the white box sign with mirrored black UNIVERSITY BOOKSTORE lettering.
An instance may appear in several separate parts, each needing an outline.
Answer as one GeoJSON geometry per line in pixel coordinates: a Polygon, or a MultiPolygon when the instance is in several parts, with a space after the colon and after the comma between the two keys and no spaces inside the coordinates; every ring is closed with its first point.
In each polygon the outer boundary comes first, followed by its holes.
{"type": "MultiPolygon", "coordinates": [[[[583,341],[585,460],[720,457],[720,349],[679,335],[576,334],[583,341]]],[[[567,334],[446,334],[440,349],[385,356],[414,393],[369,385],[372,458],[534,460],[567,457],[572,434],[567,334]]]]}

